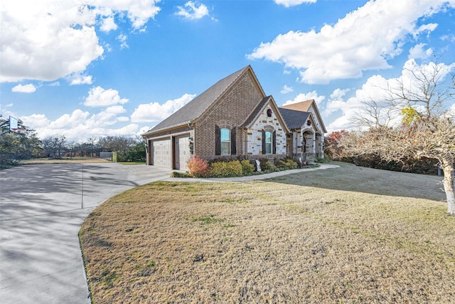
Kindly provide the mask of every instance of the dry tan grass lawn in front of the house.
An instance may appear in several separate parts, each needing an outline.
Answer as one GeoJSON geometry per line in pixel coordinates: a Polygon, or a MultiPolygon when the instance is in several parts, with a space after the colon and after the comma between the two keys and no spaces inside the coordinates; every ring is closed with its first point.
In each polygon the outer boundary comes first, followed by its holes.
{"type": "Polygon", "coordinates": [[[92,300],[455,303],[455,218],[439,180],[341,164],[137,187],[80,230],[92,300]]]}

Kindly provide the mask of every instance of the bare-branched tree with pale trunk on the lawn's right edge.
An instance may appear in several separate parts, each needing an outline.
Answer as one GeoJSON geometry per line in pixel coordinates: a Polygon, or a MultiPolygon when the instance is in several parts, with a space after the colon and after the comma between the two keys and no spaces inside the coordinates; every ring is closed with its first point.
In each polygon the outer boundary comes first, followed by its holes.
{"type": "Polygon", "coordinates": [[[364,103],[366,110],[357,122],[366,130],[343,137],[343,147],[351,155],[375,154],[389,162],[437,159],[444,172],[447,211],[455,215],[455,114],[449,108],[455,103],[455,75],[449,77],[451,68],[453,65],[429,63],[405,69],[407,77],[397,78],[385,88],[385,100],[364,103]],[[387,107],[378,108],[385,103],[387,107]],[[399,113],[401,123],[381,122],[378,113],[384,109],[387,115],[399,113]]]}

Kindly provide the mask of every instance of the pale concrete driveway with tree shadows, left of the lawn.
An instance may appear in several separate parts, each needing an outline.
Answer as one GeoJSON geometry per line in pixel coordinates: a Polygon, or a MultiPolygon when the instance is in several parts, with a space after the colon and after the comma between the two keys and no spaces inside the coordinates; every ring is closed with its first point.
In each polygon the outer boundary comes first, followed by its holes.
{"type": "Polygon", "coordinates": [[[112,163],[0,171],[0,303],[90,303],[77,233],[111,196],[171,170],[112,163]]]}

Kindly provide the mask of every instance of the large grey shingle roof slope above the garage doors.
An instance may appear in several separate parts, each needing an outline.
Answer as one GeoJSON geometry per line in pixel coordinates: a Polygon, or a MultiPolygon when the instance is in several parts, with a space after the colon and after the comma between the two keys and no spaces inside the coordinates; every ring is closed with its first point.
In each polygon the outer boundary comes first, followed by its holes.
{"type": "Polygon", "coordinates": [[[207,108],[210,107],[210,105],[212,105],[215,100],[217,100],[217,98],[222,95],[225,90],[227,90],[230,85],[248,68],[250,68],[250,65],[247,65],[245,68],[237,70],[237,72],[232,73],[228,77],[218,81],[218,83],[212,85],[182,108],[174,112],[171,116],[167,117],[151,130],[147,131],[146,134],[193,122],[200,117],[200,115],[202,115],[203,112],[207,110],[207,108]]]}

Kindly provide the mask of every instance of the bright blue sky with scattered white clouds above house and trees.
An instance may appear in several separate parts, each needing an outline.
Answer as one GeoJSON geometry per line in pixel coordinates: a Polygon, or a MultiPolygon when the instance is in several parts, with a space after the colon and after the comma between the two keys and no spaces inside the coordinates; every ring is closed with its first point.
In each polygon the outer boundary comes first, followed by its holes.
{"type": "MultiPolygon", "coordinates": [[[[328,132],[414,68],[455,72],[455,0],[0,3],[0,114],[38,137],[137,136],[247,65],[328,132]]],[[[448,105],[455,110],[455,105],[448,105]]]]}

